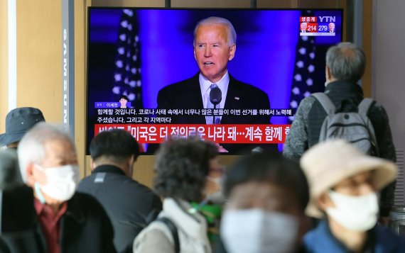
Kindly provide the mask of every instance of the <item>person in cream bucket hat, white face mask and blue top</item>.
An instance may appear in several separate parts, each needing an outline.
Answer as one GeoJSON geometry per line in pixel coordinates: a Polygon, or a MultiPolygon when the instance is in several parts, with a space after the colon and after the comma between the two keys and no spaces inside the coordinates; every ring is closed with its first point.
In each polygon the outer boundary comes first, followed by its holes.
{"type": "Polygon", "coordinates": [[[379,191],[396,165],[369,157],[345,140],[315,145],[301,158],[311,200],[308,215],[323,218],[308,232],[308,252],[405,252],[405,239],[377,225],[379,191]]]}

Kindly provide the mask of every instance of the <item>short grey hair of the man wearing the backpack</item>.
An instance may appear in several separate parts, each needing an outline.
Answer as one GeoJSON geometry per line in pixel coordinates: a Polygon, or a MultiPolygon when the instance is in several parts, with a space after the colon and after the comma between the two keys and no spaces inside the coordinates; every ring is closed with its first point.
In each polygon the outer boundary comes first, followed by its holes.
{"type": "Polygon", "coordinates": [[[335,79],[357,83],[365,73],[366,55],[353,43],[339,43],[326,52],[326,66],[335,79]]]}

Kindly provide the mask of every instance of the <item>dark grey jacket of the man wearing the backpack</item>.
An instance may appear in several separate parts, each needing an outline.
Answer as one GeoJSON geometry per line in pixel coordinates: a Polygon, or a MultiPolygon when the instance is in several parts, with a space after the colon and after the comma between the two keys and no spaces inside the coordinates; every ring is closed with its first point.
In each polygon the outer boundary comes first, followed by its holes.
{"type": "MultiPolygon", "coordinates": [[[[362,88],[357,84],[345,81],[333,81],[325,88],[325,94],[333,101],[335,106],[342,106],[342,101],[349,101],[356,105],[363,99],[362,88]]],[[[370,121],[377,137],[379,157],[396,162],[394,142],[387,112],[379,103],[374,103],[369,109],[370,121]]],[[[320,103],[313,97],[303,99],[291,125],[291,130],[286,137],[283,155],[299,161],[303,152],[318,142],[320,127],[326,113],[320,103]]],[[[395,182],[389,184],[381,193],[380,214],[387,216],[389,209],[394,204],[395,182]]]]}

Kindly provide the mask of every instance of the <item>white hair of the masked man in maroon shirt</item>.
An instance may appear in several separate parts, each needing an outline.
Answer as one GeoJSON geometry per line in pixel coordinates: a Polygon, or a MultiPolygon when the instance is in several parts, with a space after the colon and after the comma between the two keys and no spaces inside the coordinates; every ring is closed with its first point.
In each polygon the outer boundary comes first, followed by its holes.
{"type": "Polygon", "coordinates": [[[41,164],[45,157],[44,144],[49,140],[68,140],[75,149],[75,143],[61,125],[41,122],[36,124],[21,139],[18,145],[18,163],[23,181],[29,163],[41,164]]]}

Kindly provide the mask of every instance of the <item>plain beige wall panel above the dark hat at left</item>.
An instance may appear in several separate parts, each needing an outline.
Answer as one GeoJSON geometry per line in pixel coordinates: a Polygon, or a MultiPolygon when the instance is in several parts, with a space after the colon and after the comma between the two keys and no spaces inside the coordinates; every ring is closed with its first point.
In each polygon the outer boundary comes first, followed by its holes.
{"type": "Polygon", "coordinates": [[[17,1],[17,106],[62,120],[61,2],[17,1]]]}

